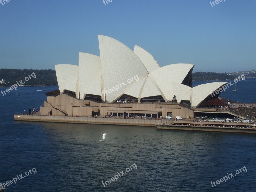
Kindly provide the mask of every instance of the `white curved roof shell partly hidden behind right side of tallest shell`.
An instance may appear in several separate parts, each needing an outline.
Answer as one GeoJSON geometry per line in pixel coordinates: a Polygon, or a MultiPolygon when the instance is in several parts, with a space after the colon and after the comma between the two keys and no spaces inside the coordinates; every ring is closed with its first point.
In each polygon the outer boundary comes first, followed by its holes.
{"type": "Polygon", "coordinates": [[[150,55],[150,53],[147,52],[145,49],[142,49],[141,47],[135,45],[133,52],[140,58],[140,60],[148,70],[148,73],[151,73],[152,71],[160,68],[155,58],[150,55]]]}

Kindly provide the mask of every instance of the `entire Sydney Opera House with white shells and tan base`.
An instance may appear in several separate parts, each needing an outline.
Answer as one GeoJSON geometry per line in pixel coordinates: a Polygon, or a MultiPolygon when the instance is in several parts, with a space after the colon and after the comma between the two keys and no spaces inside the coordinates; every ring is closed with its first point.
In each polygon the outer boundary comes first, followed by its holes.
{"type": "Polygon", "coordinates": [[[192,87],[192,64],[160,67],[143,48],[132,51],[108,36],[98,36],[100,56],[79,53],[78,65],[55,65],[59,89],[46,93],[41,115],[181,116],[225,105],[211,95],[226,82],[192,87]]]}

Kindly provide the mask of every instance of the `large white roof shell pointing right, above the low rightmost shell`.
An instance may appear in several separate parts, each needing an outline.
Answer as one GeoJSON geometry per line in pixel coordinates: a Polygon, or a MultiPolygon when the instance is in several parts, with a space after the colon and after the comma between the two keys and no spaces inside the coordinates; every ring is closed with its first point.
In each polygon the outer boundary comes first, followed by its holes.
{"type": "Polygon", "coordinates": [[[193,66],[192,64],[184,63],[166,65],[154,70],[150,75],[155,79],[164,97],[167,100],[172,100],[175,95],[172,83],[181,84],[193,66]]]}

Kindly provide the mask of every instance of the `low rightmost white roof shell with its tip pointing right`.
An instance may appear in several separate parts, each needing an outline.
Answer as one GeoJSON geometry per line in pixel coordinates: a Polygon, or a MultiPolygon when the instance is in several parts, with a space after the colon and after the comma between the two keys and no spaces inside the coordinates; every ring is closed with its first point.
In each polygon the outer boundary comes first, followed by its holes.
{"type": "MultiPolygon", "coordinates": [[[[212,92],[219,89],[221,86],[227,84],[226,82],[213,82],[198,85],[192,88],[191,91],[191,106],[198,107],[198,105],[205,100],[212,92]]],[[[213,94],[212,94],[213,95],[213,94]]],[[[216,94],[215,94],[216,95],[216,94]]]]}

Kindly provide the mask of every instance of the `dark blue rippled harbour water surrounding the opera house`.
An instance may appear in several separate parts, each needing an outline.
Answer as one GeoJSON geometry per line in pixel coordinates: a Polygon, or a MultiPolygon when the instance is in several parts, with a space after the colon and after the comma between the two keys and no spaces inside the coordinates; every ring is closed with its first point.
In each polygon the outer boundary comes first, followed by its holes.
{"type": "MultiPolygon", "coordinates": [[[[193,82],[193,85],[206,83],[193,82]]],[[[256,79],[237,83],[222,97],[256,101],[256,79]]],[[[6,88],[0,88],[5,90],[6,88]]],[[[14,122],[13,114],[39,109],[54,87],[19,87],[0,95],[0,183],[32,168],[8,191],[255,191],[256,136],[182,132],[154,127],[14,122]],[[40,91],[42,90],[42,91],[40,91]],[[106,133],[103,137],[103,134],[106,133]],[[116,181],[105,182],[126,172],[116,181]],[[233,178],[220,180],[246,167],[233,178]]]]}

